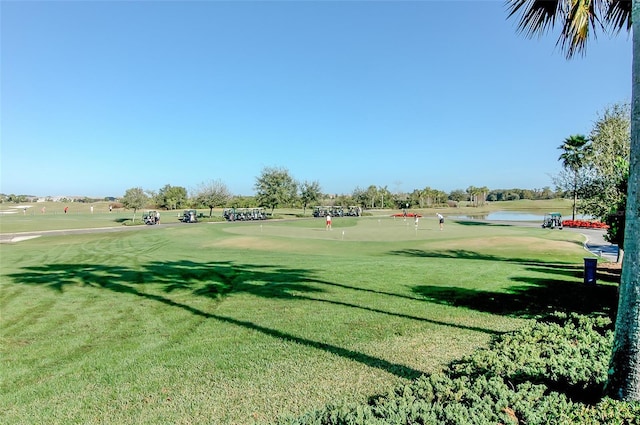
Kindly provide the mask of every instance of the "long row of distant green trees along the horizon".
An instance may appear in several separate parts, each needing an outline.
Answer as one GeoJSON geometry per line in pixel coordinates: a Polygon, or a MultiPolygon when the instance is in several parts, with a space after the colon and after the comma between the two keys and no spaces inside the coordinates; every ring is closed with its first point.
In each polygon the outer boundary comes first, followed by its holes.
{"type": "Polygon", "coordinates": [[[392,193],[387,186],[371,185],[365,189],[356,187],[350,194],[327,194],[322,192],[317,181],[297,181],[283,167],[266,167],[256,177],[255,195],[233,195],[222,180],[212,180],[200,184],[191,192],[182,186],[166,184],[158,191],[140,187],[128,189],[120,202],[130,209],[153,206],[159,209],[176,210],[182,208],[307,208],[314,205],[360,206],[374,208],[431,208],[456,207],[462,202],[469,206],[481,206],[487,202],[513,201],[519,199],[556,199],[567,196],[567,191],[540,189],[489,189],[469,186],[450,192],[425,187],[410,193],[392,193]]]}

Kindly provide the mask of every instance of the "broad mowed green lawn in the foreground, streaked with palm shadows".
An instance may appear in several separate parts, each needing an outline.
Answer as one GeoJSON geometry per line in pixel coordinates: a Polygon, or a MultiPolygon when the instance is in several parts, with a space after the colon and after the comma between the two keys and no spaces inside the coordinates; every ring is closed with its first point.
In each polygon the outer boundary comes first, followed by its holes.
{"type": "Polygon", "coordinates": [[[529,317],[604,309],[584,256],[576,233],[388,216],[0,244],[2,423],[263,423],[366,400],[529,317]]]}

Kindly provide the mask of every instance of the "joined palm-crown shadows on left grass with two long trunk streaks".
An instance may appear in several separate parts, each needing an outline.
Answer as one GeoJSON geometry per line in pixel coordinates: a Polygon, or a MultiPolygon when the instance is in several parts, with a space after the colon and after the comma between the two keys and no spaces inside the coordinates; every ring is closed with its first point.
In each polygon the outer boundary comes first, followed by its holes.
{"type": "MultiPolygon", "coordinates": [[[[265,298],[331,303],[338,306],[363,309],[406,319],[421,320],[443,326],[494,333],[487,329],[459,326],[452,323],[399,314],[342,301],[313,297],[313,294],[326,292],[319,288],[318,284],[331,285],[332,283],[314,279],[312,272],[307,269],[236,264],[232,262],[151,262],[141,266],[139,269],[80,263],[26,267],[23,272],[11,274],[9,277],[17,284],[44,286],[59,292],[63,292],[66,287],[70,286],[88,286],[156,301],[169,307],[183,309],[191,314],[207,319],[219,320],[236,326],[253,329],[274,338],[294,341],[301,345],[323,350],[407,379],[417,378],[422,375],[423,372],[333,344],[302,338],[254,322],[205,311],[188,305],[185,302],[176,301],[171,298],[170,294],[175,291],[190,291],[197,296],[220,300],[230,293],[245,292],[265,298]],[[159,288],[159,290],[156,290],[156,288],[159,288]]],[[[416,301],[420,300],[416,299],[416,301]]],[[[213,309],[215,309],[215,306],[213,306],[213,309]]]]}

